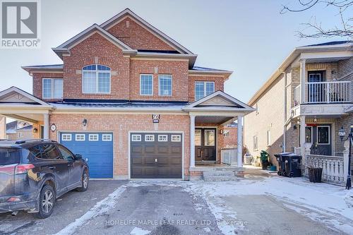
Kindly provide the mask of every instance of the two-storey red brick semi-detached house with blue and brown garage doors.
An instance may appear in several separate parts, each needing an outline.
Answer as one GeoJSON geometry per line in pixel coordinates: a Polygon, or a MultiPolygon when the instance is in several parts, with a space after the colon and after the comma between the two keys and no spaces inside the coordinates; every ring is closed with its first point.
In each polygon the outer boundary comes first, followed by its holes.
{"type": "Polygon", "coordinates": [[[23,66],[33,95],[0,92],[0,114],[82,154],[92,178],[199,178],[220,164],[220,133],[236,120],[242,146],[253,108],[223,92],[232,72],[195,66],[196,54],[131,10],[53,50],[63,64],[23,66]]]}

